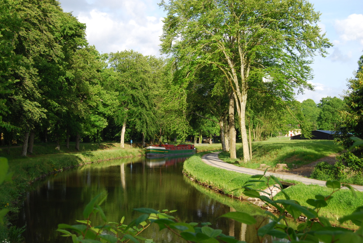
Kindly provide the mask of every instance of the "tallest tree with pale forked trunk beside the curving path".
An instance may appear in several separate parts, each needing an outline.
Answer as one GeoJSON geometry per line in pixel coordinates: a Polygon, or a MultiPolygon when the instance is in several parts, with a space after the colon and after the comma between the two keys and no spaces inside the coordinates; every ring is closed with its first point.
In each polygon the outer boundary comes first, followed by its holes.
{"type": "Polygon", "coordinates": [[[309,57],[331,44],[316,25],[319,13],[305,0],[170,0],[160,4],[162,51],[214,64],[228,80],[236,102],[244,161],[249,161],[245,126],[248,90],[266,84],[282,100],[293,88],[308,88],[309,57]]]}

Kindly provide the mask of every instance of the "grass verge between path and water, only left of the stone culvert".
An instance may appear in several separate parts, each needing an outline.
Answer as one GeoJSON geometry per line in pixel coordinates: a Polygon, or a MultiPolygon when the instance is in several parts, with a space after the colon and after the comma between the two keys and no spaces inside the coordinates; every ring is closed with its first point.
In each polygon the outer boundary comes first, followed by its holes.
{"type": "MultiPolygon", "coordinates": [[[[201,155],[188,158],[184,162],[184,172],[197,181],[221,189],[227,195],[242,196],[241,190],[232,190],[242,186],[250,176],[207,165],[201,160],[201,155]]],[[[263,183],[256,183],[254,188],[265,189],[263,183]]]]}

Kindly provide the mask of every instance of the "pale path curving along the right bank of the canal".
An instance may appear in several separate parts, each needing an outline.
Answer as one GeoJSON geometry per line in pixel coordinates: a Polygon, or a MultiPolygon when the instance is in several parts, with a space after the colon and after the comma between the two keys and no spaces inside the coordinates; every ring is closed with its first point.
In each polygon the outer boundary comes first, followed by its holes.
{"type": "MultiPolygon", "coordinates": [[[[218,153],[219,152],[214,152],[214,153],[203,155],[203,157],[202,157],[203,162],[206,163],[207,165],[211,165],[214,167],[218,167],[218,168],[226,169],[226,170],[230,170],[230,171],[236,171],[238,173],[243,173],[243,174],[248,174],[248,175],[262,175],[262,171],[260,171],[260,170],[248,169],[248,168],[244,168],[244,167],[238,167],[235,165],[231,165],[229,163],[225,163],[224,161],[221,161],[218,158],[218,153]]],[[[273,176],[278,177],[283,180],[299,181],[306,185],[314,184],[314,185],[319,185],[319,186],[325,186],[325,183],[326,183],[326,181],[319,181],[319,180],[315,180],[315,179],[301,177],[298,175],[283,175],[283,174],[270,173],[270,172],[266,172],[266,175],[273,175],[273,176]]],[[[363,186],[352,185],[352,187],[354,187],[358,191],[363,191],[363,186]]]]}

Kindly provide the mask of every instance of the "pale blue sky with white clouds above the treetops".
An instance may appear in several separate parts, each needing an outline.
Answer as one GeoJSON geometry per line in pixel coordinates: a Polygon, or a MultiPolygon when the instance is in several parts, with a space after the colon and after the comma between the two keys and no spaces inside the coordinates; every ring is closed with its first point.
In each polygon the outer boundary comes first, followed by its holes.
{"type": "MultiPolygon", "coordinates": [[[[143,55],[159,56],[159,36],[163,17],[160,0],[60,0],[66,12],[72,12],[85,23],[87,40],[99,52],[109,53],[127,49],[143,55]]],[[[347,90],[347,79],[354,77],[357,61],[363,54],[363,1],[310,0],[321,13],[318,23],[333,47],[329,55],[314,57],[314,91],[306,90],[296,99],[341,97],[347,90]]]]}

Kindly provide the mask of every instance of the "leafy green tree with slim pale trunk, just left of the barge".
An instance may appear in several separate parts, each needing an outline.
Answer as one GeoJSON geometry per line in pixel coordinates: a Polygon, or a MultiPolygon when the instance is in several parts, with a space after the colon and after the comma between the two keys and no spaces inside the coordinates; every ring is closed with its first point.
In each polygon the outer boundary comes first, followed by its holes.
{"type": "Polygon", "coordinates": [[[154,74],[148,58],[134,50],[110,53],[109,64],[115,75],[110,85],[118,92],[120,107],[115,119],[122,126],[120,146],[124,147],[127,124],[150,137],[155,133],[154,74]]]}

